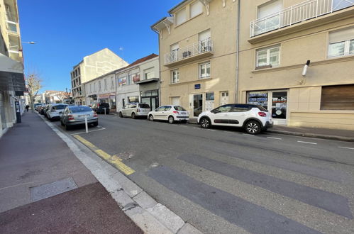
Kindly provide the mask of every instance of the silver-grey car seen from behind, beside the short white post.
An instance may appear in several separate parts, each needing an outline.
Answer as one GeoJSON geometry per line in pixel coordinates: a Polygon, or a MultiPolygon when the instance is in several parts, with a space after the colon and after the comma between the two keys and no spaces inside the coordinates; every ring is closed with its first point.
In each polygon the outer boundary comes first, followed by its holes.
{"type": "Polygon", "coordinates": [[[89,106],[67,106],[60,116],[60,123],[65,126],[65,130],[69,130],[71,126],[85,124],[85,117],[87,117],[87,123],[93,126],[99,125],[97,113],[89,106]]]}

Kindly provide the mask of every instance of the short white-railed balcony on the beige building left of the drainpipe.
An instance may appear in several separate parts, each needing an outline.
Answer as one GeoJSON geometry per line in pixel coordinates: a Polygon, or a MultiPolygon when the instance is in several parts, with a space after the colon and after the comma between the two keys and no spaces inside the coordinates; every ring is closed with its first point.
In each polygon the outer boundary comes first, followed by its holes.
{"type": "Polygon", "coordinates": [[[185,48],[174,50],[165,55],[165,66],[173,67],[184,62],[199,60],[214,54],[213,40],[201,40],[198,43],[188,45],[185,48]]]}

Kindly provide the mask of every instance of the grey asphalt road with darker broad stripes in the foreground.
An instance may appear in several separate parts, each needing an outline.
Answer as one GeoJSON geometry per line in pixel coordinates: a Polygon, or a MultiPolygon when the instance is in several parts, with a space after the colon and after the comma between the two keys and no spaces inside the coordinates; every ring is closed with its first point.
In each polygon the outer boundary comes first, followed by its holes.
{"type": "Polygon", "coordinates": [[[67,133],[204,233],[354,233],[353,143],[114,115],[89,130],[67,133]]]}

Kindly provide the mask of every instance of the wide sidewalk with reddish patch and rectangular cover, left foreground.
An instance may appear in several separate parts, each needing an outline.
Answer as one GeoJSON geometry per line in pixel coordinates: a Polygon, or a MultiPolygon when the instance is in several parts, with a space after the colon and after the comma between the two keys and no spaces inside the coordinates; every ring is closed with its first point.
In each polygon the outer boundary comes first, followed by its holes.
{"type": "Polygon", "coordinates": [[[0,138],[0,198],[0,233],[142,233],[31,111],[0,138]]]}

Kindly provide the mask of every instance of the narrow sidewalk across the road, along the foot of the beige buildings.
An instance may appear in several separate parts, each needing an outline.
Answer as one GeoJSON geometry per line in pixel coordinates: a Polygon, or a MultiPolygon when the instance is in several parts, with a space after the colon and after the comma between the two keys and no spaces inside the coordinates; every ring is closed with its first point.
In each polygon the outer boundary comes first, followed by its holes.
{"type": "MultiPolygon", "coordinates": [[[[189,118],[188,123],[197,124],[197,118],[189,118]]],[[[353,130],[337,130],[328,128],[305,128],[305,127],[289,127],[289,126],[273,126],[268,128],[268,133],[278,133],[285,135],[298,135],[308,138],[322,138],[328,140],[342,140],[354,142],[353,130]]]]}

